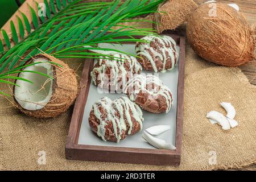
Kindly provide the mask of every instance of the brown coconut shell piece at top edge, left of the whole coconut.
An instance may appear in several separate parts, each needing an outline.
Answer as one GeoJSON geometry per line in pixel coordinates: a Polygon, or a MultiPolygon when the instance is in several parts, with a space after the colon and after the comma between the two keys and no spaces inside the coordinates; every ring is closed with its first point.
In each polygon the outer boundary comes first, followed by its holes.
{"type": "Polygon", "coordinates": [[[175,30],[187,21],[196,8],[193,0],[168,0],[162,3],[154,15],[155,29],[159,34],[164,30],[175,30]]]}

